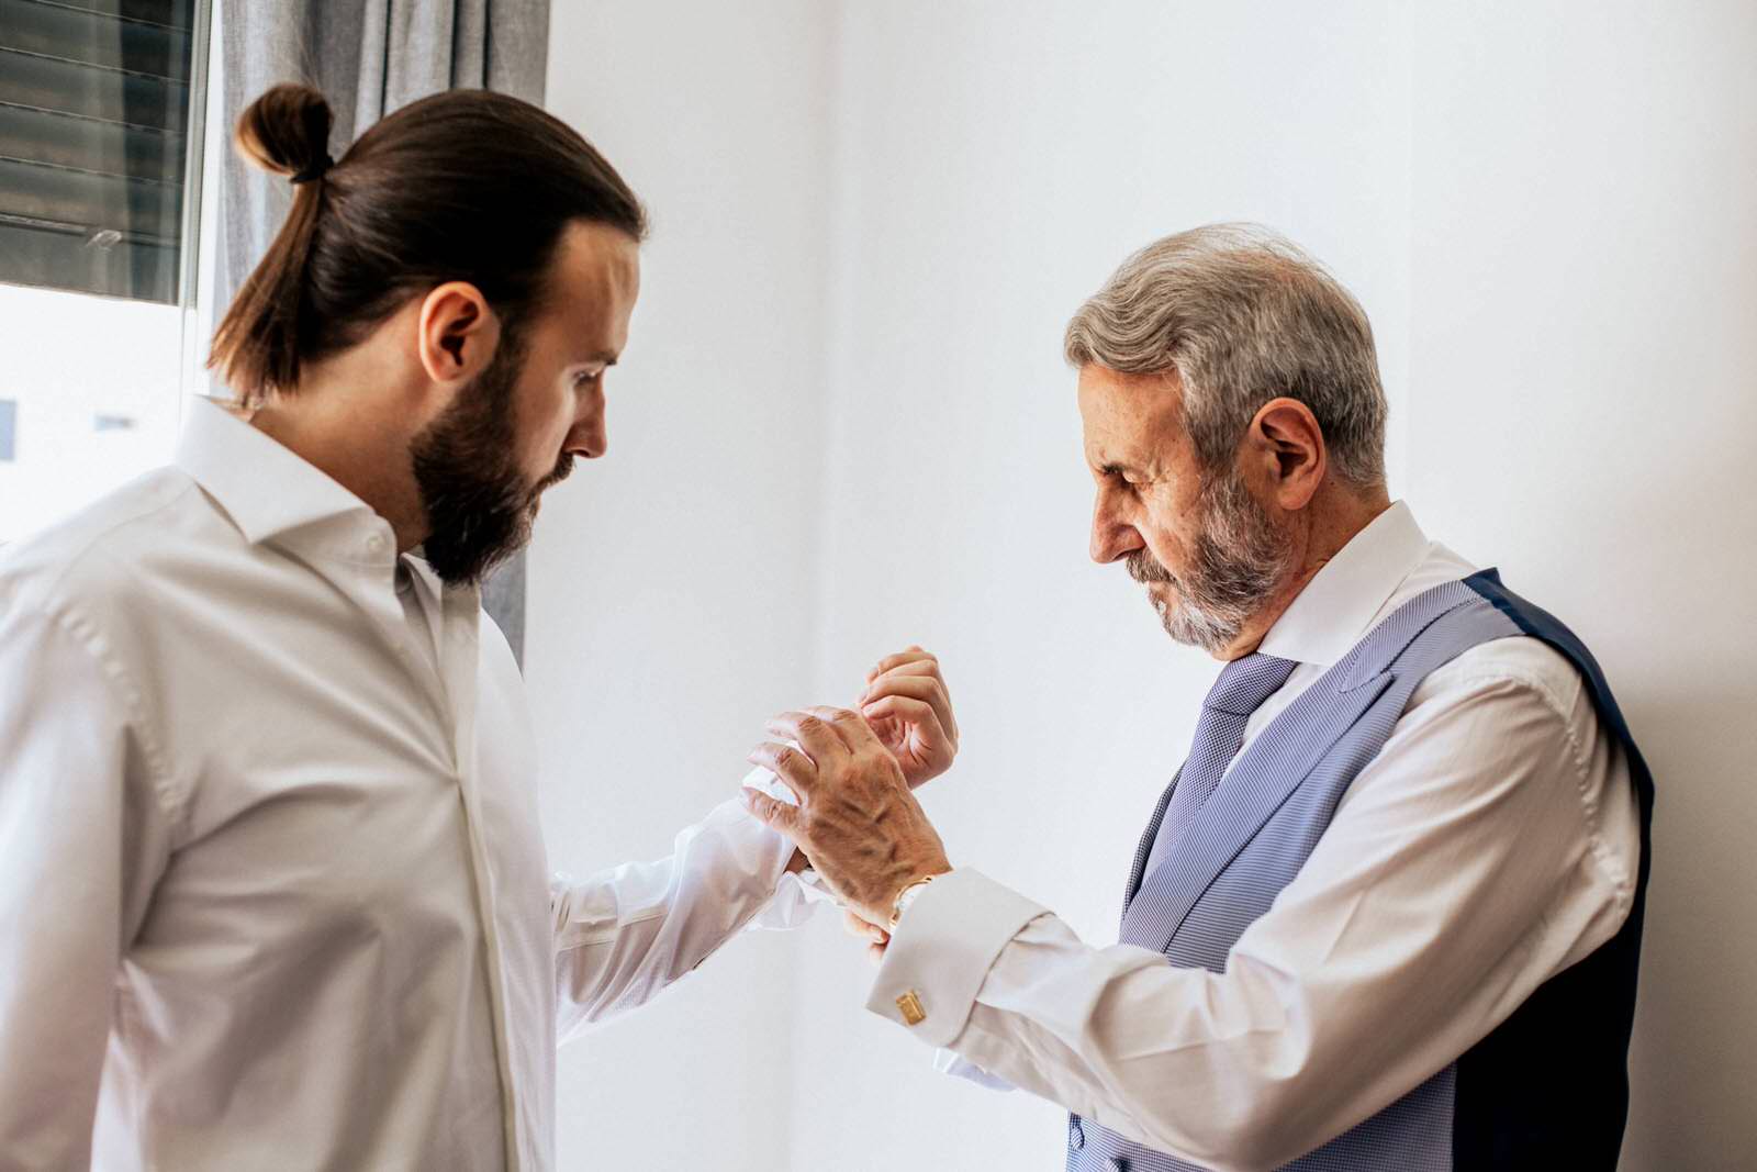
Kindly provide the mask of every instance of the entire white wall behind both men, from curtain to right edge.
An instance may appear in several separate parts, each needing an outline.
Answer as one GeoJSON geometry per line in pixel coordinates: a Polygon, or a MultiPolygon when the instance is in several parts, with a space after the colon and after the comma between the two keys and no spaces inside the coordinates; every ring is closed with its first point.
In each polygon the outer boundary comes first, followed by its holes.
{"type": "MultiPolygon", "coordinates": [[[[661,850],[763,715],[919,640],[954,861],[1114,940],[1212,666],[1086,561],[1061,325],[1263,220],[1372,315],[1393,490],[1576,626],[1659,775],[1625,1167],[1757,1161],[1757,11],[555,9],[550,104],[657,213],[611,457],[532,557],[557,861],[661,850]]],[[[562,1167],[1061,1167],[1059,1111],[935,1075],[868,980],[828,919],[736,942],[564,1053],[562,1167]]]]}

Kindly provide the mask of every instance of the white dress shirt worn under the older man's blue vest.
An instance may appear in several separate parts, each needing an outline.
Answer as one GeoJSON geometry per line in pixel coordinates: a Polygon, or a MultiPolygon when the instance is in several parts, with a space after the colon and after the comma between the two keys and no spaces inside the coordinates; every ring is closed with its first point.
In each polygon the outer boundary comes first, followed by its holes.
{"type": "MultiPolygon", "coordinates": [[[[1381,619],[1471,573],[1404,504],[1377,517],[1265,636],[1298,666],[1246,743],[1381,619]]],[[[1146,819],[1154,792],[1135,798],[1146,819]]],[[[1133,847],[1110,859],[1119,884],[1133,847]]],[[[1421,682],[1223,973],[1084,944],[961,868],[900,922],[870,1009],[903,1023],[915,991],[912,1031],[958,1056],[944,1067],[1197,1163],[1270,1168],[1420,1086],[1609,940],[1638,859],[1634,787],[1590,691],[1544,643],[1497,640],[1421,682]]]]}

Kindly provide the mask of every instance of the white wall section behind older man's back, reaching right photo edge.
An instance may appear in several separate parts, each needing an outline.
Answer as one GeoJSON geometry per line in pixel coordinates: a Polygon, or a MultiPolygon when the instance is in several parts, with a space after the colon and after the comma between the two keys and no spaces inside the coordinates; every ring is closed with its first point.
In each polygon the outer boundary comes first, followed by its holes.
{"type": "Polygon", "coordinates": [[[1657,777],[1623,1165],[1752,1168],[1757,5],[1448,5],[1414,60],[1407,490],[1657,777]]]}

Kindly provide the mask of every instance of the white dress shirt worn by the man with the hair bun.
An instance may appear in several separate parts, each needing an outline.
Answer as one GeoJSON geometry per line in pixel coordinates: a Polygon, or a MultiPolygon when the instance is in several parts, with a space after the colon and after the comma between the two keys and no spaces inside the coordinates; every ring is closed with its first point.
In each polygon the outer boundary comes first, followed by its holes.
{"type": "Polygon", "coordinates": [[[557,1037],[768,901],[736,801],[552,880],[506,641],[401,568],[209,402],[0,552],[0,1168],[550,1168],[557,1037]]]}

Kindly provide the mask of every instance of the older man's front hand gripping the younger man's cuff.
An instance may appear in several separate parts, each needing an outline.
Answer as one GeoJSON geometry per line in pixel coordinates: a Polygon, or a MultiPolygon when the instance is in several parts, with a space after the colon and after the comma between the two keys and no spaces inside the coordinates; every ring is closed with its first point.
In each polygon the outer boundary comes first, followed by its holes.
{"type": "Polygon", "coordinates": [[[784,712],[768,731],[777,740],[750,750],[750,761],[773,770],[799,805],[754,789],[745,791],[745,805],[792,838],[861,919],[891,922],[903,887],[952,870],[938,831],[908,792],[903,768],[857,713],[784,712]],[[780,743],[785,740],[799,747],[780,743]]]}

